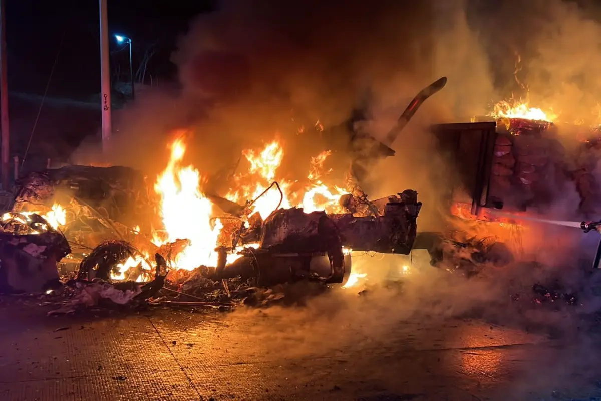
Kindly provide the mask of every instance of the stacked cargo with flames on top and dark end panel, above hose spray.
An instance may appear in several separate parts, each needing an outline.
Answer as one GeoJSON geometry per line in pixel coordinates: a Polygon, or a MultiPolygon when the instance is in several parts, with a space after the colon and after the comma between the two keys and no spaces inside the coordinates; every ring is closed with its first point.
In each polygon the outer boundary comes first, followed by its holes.
{"type": "Polygon", "coordinates": [[[456,147],[451,152],[459,165],[450,195],[453,214],[501,221],[506,219],[492,216],[490,210],[541,213],[573,185],[581,197],[573,212],[598,214],[596,131],[588,130],[582,141],[577,139],[582,127],[557,126],[555,118],[526,103],[500,102],[493,121],[487,117],[435,126],[442,147],[456,147]]]}

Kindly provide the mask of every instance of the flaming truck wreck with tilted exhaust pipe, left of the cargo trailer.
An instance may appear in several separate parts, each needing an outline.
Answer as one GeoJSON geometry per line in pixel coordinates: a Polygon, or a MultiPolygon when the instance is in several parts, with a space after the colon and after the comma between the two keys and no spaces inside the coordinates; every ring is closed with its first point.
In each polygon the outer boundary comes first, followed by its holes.
{"type": "MultiPolygon", "coordinates": [[[[192,277],[222,285],[227,293],[227,282],[234,278],[261,287],[299,280],[344,284],[352,274],[352,251],[410,253],[421,209],[417,193],[368,200],[361,171],[394,155],[389,145],[398,132],[445,82],[439,79],[418,94],[387,144],[355,133],[352,124],[345,126],[349,141],[334,151],[350,165],[345,189],[323,182],[331,172],[323,163],[332,150],[311,158],[304,180],[279,176],[284,151],[278,139],[242,153],[247,171],[237,172],[239,159],[227,173],[204,177],[182,165],[186,131],[179,131],[154,188],[142,173],[126,167],[75,165],[33,172],[16,183],[5,220],[9,215],[45,219],[47,230],[37,235],[61,236],[64,247],[52,260],[64,271],[78,271],[69,283],[79,293],[90,288],[106,293],[107,283],[122,282],[155,283],[154,290],[171,283],[169,289],[179,293],[192,277]],[[153,254],[155,262],[149,257],[153,254]],[[159,260],[171,272],[166,280],[156,273],[159,260]]],[[[5,227],[6,236],[18,235],[5,227]]],[[[3,266],[7,257],[0,254],[3,266]]],[[[137,290],[127,293],[128,299],[140,291],[137,284],[133,287],[137,290]]]]}

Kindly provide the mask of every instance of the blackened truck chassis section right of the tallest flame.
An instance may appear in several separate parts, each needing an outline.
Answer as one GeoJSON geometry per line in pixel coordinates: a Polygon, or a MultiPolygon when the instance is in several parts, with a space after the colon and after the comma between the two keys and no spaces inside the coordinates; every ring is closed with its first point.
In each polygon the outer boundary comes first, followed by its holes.
{"type": "Polygon", "coordinates": [[[245,248],[243,257],[216,268],[218,278],[258,274],[268,282],[320,277],[343,283],[349,277],[349,250],[409,254],[421,208],[415,191],[388,198],[380,216],[305,213],[299,208],[279,209],[264,221],[258,248],[245,248]],[[282,266],[282,269],[273,266],[282,266]]]}

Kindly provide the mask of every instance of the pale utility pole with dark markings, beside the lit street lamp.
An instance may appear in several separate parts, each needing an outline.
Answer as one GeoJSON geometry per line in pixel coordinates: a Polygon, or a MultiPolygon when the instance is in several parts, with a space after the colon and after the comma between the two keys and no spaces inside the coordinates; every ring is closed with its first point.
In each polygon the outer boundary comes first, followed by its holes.
{"type": "MultiPolygon", "coordinates": [[[[2,0],[0,0],[2,1],[2,0]]],[[[109,68],[109,28],[106,0],[100,1],[100,106],[102,107],[102,150],[111,141],[111,70],[109,68]]]]}

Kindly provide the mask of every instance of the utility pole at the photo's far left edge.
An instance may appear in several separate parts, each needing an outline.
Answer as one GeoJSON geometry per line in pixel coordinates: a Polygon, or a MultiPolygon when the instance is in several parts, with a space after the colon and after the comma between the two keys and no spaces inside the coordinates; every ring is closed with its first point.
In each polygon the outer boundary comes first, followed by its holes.
{"type": "Polygon", "coordinates": [[[2,175],[2,190],[8,191],[10,180],[10,133],[8,131],[8,75],[6,71],[6,17],[5,0],[0,0],[0,172],[2,175]]]}

